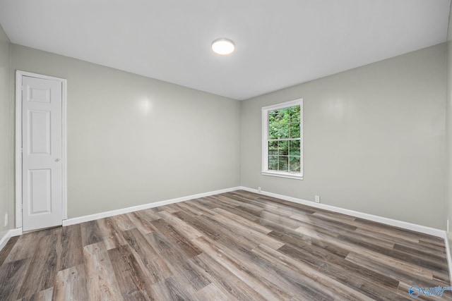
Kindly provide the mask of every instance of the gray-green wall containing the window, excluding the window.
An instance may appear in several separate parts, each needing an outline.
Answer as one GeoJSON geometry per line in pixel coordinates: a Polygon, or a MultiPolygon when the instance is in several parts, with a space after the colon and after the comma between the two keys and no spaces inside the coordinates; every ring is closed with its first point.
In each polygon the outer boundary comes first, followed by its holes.
{"type": "Polygon", "coordinates": [[[444,229],[445,92],[439,44],[248,99],[242,185],[444,229]],[[261,176],[261,107],[298,98],[304,180],[261,176]]]}

